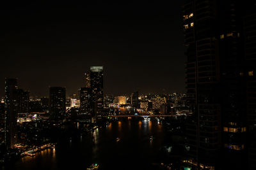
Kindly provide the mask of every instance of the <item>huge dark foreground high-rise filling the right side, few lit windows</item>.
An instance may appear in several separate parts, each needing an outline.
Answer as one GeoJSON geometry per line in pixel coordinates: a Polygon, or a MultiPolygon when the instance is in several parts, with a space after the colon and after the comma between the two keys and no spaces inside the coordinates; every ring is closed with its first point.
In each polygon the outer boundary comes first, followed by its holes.
{"type": "Polygon", "coordinates": [[[255,10],[253,1],[184,4],[187,102],[193,111],[186,124],[186,162],[197,169],[247,169],[246,143],[255,154],[253,139],[246,142],[256,125],[256,22],[250,9],[255,10]]]}

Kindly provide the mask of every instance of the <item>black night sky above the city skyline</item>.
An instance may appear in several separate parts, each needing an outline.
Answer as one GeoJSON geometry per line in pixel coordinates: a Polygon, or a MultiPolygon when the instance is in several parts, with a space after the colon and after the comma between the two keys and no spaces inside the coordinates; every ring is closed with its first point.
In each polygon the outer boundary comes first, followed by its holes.
{"type": "Polygon", "coordinates": [[[88,2],[0,3],[0,96],[5,77],[32,96],[72,94],[90,66],[104,66],[108,94],[184,91],[183,1],[88,2]]]}

